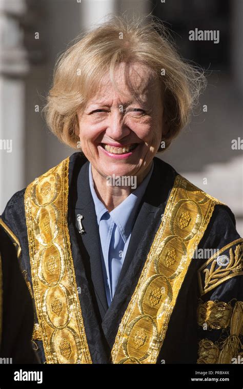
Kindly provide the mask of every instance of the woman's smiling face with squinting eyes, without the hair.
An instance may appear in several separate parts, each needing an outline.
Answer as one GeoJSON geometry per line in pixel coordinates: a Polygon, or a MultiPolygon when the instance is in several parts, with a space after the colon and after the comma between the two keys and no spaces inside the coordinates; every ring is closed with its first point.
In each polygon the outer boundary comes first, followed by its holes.
{"type": "Polygon", "coordinates": [[[141,182],[161,142],[163,104],[158,81],[146,65],[126,66],[130,92],[125,82],[125,64],[117,66],[115,81],[103,79],[97,93],[78,112],[82,151],[95,174],[107,176],[136,175],[141,182]]]}

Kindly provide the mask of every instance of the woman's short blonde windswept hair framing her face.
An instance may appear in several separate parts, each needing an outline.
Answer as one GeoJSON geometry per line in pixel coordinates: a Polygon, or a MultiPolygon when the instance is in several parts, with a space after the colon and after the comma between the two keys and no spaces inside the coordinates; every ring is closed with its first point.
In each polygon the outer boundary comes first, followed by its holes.
{"type": "Polygon", "coordinates": [[[157,19],[129,22],[124,16],[112,16],[91,32],[78,35],[57,59],[43,112],[48,127],[64,144],[78,148],[77,112],[97,91],[106,72],[114,79],[115,67],[121,62],[149,66],[161,83],[168,131],[161,138],[165,147],[158,151],[168,148],[189,123],[206,85],[203,72],[180,58],[168,30],[157,19]]]}

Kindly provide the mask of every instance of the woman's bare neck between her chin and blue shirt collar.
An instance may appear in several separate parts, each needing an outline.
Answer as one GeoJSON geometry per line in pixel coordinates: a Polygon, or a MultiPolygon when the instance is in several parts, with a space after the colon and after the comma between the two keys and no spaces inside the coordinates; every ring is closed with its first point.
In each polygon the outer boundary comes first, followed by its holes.
{"type": "MultiPolygon", "coordinates": [[[[150,171],[152,166],[152,161],[150,165],[145,169],[145,171],[137,177],[137,187],[143,182],[144,178],[150,171]]],[[[108,186],[106,177],[100,175],[97,170],[91,166],[94,189],[97,194],[97,197],[100,201],[103,202],[105,207],[109,212],[116,208],[121,202],[123,202],[136,188],[131,188],[131,186],[108,186]]]]}

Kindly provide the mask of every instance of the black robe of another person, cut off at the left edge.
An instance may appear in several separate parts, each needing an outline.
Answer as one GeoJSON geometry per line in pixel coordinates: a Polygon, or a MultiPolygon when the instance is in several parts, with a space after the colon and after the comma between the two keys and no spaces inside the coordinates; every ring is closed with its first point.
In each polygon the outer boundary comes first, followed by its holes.
{"type": "Polygon", "coordinates": [[[38,363],[31,344],[33,304],[18,266],[17,243],[1,223],[0,259],[0,358],[2,363],[38,363]]]}

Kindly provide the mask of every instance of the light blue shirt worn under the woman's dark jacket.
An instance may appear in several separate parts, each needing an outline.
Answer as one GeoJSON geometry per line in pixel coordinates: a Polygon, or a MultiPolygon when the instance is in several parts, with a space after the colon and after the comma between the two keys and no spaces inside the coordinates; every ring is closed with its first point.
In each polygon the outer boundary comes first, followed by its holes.
{"type": "Polygon", "coordinates": [[[153,172],[154,162],[143,182],[110,213],[99,200],[94,189],[94,182],[89,163],[89,185],[94,200],[95,213],[99,228],[102,252],[102,268],[105,282],[107,303],[110,306],[117,281],[122,270],[133,224],[135,222],[139,203],[145,193],[153,172]]]}

